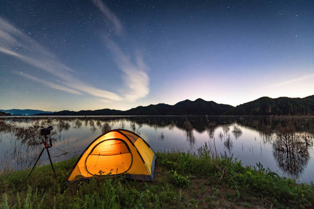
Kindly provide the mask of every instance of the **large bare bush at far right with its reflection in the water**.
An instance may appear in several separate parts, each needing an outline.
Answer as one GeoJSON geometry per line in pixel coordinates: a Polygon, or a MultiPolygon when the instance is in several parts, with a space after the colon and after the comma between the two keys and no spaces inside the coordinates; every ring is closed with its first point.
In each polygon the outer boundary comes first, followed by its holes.
{"type": "Polygon", "coordinates": [[[273,156],[281,169],[298,176],[308,163],[312,145],[313,135],[296,133],[292,126],[278,127],[272,143],[273,156]]]}

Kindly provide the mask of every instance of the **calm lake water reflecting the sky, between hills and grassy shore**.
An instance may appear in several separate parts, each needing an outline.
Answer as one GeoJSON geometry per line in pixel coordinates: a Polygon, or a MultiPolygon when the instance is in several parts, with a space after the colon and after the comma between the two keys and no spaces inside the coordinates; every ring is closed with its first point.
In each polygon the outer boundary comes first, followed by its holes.
{"type": "MultiPolygon", "coordinates": [[[[207,144],[246,165],[261,162],[281,176],[314,181],[313,117],[32,117],[0,119],[0,169],[30,168],[43,148],[41,127],[53,126],[53,162],[79,156],[111,129],[141,135],[155,151],[197,152],[207,144]]],[[[42,156],[47,164],[48,156],[42,156]]]]}

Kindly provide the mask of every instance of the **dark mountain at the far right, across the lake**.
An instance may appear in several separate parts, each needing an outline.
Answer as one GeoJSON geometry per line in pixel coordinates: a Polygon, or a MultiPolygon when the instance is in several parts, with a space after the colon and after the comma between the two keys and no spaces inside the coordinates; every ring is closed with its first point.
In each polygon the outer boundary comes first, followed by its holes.
{"type": "Polygon", "coordinates": [[[232,108],[223,115],[314,115],[314,95],[304,98],[261,97],[232,108]]]}

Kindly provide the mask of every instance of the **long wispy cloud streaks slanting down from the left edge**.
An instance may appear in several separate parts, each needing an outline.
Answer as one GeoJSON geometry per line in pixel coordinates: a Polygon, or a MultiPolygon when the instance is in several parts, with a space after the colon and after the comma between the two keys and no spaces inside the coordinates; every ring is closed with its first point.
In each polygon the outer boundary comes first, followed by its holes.
{"type": "Polygon", "coordinates": [[[14,56],[27,64],[42,69],[58,78],[62,85],[53,85],[51,82],[42,82],[42,79],[24,74],[23,76],[41,82],[54,89],[66,91],[73,94],[85,92],[97,97],[112,100],[122,100],[123,98],[113,92],[101,90],[87,85],[73,74],[75,71],[52,55],[48,50],[38,44],[29,35],[15,28],[5,19],[0,17],[0,53],[14,56]],[[16,51],[13,49],[17,49],[16,51]]]}

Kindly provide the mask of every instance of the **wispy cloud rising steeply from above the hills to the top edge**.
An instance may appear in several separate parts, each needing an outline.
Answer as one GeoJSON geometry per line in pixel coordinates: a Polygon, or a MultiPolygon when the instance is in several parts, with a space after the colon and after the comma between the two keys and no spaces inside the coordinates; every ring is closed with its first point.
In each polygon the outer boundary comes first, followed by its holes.
{"type": "MultiPolygon", "coordinates": [[[[101,0],[92,0],[92,2],[111,20],[118,34],[124,30],[120,20],[101,0]]],[[[127,34],[125,36],[130,39],[127,34]]],[[[132,60],[130,56],[122,52],[112,39],[103,36],[103,40],[113,54],[117,67],[123,72],[123,79],[126,86],[126,89],[122,91],[123,97],[129,101],[134,101],[147,96],[149,93],[149,77],[147,75],[149,67],[145,64],[143,57],[139,53],[132,53],[136,55],[132,60]]]]}

